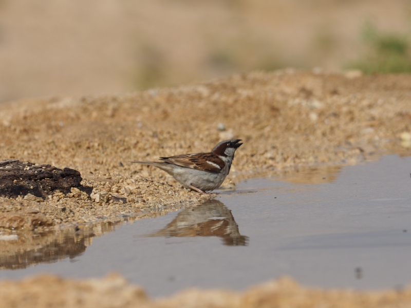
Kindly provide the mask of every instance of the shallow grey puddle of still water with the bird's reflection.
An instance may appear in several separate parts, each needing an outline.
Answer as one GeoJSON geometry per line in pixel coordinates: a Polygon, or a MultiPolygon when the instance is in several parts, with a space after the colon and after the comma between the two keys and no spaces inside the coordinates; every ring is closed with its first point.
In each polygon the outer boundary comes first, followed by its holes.
{"type": "Polygon", "coordinates": [[[196,208],[124,224],[84,249],[74,241],[71,259],[4,269],[0,278],[117,271],[152,296],[240,290],[279,275],[311,286],[400,287],[411,282],[410,172],[410,157],[387,156],[245,181],[196,208]]]}

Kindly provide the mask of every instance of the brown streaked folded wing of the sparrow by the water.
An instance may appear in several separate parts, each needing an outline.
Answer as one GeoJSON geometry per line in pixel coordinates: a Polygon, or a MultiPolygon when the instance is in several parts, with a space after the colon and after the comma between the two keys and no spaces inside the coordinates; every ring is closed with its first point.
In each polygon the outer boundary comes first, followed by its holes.
{"type": "Polygon", "coordinates": [[[169,164],[207,172],[218,172],[224,168],[224,162],[212,153],[183,154],[172,157],[160,157],[160,159],[169,164]]]}

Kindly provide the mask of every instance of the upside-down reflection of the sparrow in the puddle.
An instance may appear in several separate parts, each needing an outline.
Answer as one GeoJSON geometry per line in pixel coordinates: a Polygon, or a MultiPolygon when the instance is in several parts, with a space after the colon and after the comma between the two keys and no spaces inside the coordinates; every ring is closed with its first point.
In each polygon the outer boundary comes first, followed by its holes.
{"type": "Polygon", "coordinates": [[[183,209],[163,229],[148,236],[217,236],[224,245],[248,245],[248,237],[240,234],[231,210],[218,200],[208,200],[196,207],[183,209]]]}

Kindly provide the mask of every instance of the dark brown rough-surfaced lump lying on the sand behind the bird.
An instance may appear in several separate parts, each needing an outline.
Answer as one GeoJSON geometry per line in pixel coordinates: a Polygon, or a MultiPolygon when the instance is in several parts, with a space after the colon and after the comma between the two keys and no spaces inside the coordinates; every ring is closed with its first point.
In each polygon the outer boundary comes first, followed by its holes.
{"type": "Polygon", "coordinates": [[[46,199],[59,190],[63,194],[71,187],[85,190],[80,172],[51,165],[35,165],[15,159],[0,161],[0,196],[16,198],[28,194],[46,199]]]}

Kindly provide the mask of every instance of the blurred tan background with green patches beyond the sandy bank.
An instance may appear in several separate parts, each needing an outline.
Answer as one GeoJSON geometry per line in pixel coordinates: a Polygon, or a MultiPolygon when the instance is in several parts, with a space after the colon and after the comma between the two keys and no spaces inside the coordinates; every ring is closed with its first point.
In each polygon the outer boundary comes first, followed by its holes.
{"type": "Polygon", "coordinates": [[[0,0],[0,102],[233,72],[411,71],[410,0],[0,0]]]}

